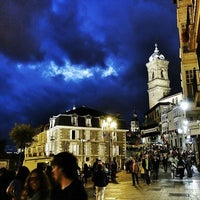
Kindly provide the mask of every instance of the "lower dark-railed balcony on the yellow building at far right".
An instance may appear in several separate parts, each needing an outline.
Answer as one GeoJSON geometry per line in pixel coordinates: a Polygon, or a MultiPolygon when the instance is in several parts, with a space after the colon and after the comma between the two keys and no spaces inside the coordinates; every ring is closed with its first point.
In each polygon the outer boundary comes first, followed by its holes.
{"type": "Polygon", "coordinates": [[[193,77],[194,103],[200,107],[200,70],[194,69],[193,77]]]}

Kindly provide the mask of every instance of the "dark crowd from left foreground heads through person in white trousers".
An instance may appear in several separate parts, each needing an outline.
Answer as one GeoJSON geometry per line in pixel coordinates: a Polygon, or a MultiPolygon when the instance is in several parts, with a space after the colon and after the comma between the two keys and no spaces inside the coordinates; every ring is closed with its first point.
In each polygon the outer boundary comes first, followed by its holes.
{"type": "Polygon", "coordinates": [[[16,172],[1,168],[0,200],[86,200],[88,178],[94,183],[96,200],[103,200],[108,182],[116,182],[116,173],[115,158],[110,164],[96,159],[93,166],[85,163],[80,169],[73,154],[62,152],[54,156],[51,166],[32,171],[25,166],[16,172]]]}

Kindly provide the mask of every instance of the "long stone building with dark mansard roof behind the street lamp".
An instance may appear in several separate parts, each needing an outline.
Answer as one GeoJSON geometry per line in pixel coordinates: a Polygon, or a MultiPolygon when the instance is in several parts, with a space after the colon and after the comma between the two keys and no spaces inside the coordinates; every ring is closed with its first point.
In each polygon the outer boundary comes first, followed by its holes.
{"type": "Polygon", "coordinates": [[[37,145],[33,143],[26,149],[25,162],[31,158],[34,160],[34,156],[37,156],[38,160],[44,156],[48,161],[55,154],[69,151],[78,158],[81,168],[84,163],[91,166],[96,159],[108,163],[109,159],[114,157],[121,168],[126,153],[126,123],[123,119],[111,116],[117,127],[103,129],[103,123],[108,116],[82,106],[51,117],[49,128],[45,133],[37,135],[37,145]],[[41,135],[45,135],[45,139],[41,135]],[[35,154],[40,147],[39,141],[45,141],[42,142],[41,155],[35,154]]]}

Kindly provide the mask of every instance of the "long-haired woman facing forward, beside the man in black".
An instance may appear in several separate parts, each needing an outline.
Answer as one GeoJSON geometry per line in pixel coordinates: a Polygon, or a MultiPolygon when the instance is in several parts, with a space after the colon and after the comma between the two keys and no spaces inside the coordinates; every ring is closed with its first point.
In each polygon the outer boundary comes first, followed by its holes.
{"type": "Polygon", "coordinates": [[[50,200],[50,183],[41,169],[36,168],[28,175],[21,200],[50,200]]]}

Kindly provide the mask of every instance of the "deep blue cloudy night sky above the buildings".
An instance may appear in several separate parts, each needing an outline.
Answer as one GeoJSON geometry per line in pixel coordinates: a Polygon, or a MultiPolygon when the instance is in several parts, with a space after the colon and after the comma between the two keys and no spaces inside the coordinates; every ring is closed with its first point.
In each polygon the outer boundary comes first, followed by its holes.
{"type": "Polygon", "coordinates": [[[142,120],[155,43],[180,92],[172,0],[2,0],[0,138],[15,123],[37,127],[73,106],[142,120]]]}

